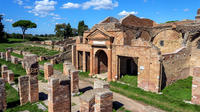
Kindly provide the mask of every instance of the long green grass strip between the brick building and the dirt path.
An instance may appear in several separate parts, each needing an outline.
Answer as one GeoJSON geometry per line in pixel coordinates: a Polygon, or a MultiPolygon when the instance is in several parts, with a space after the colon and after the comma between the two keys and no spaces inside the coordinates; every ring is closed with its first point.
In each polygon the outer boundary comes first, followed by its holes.
{"type": "MultiPolygon", "coordinates": [[[[158,107],[158,108],[166,110],[166,111],[199,112],[200,106],[186,104],[185,102],[183,102],[183,99],[188,99],[188,96],[186,95],[187,97],[185,97],[183,95],[178,94],[181,91],[178,90],[177,87],[179,86],[181,88],[184,86],[184,85],[180,86],[181,84],[189,85],[190,82],[191,82],[191,77],[189,77],[185,80],[177,81],[174,83],[175,86],[174,85],[169,86],[168,88],[166,88],[166,90],[163,90],[163,94],[161,94],[161,95],[152,93],[152,92],[147,92],[140,88],[128,86],[125,84],[120,84],[117,82],[110,82],[110,85],[111,85],[111,90],[114,92],[120,93],[120,94],[127,96],[134,100],[142,101],[146,104],[158,107]],[[173,97],[173,95],[172,95],[173,93],[168,92],[167,90],[174,91],[174,92],[177,91],[177,93],[175,94],[176,97],[173,97]]],[[[190,88],[187,88],[187,89],[189,90],[190,88]]],[[[186,93],[186,92],[184,92],[184,93],[190,94],[190,93],[186,93]]]]}

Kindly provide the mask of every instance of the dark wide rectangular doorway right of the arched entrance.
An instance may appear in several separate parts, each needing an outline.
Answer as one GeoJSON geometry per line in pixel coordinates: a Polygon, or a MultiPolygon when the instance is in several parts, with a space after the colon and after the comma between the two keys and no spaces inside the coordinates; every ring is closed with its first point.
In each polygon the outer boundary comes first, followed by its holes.
{"type": "Polygon", "coordinates": [[[119,56],[119,74],[137,76],[138,75],[138,57],[119,56]]]}

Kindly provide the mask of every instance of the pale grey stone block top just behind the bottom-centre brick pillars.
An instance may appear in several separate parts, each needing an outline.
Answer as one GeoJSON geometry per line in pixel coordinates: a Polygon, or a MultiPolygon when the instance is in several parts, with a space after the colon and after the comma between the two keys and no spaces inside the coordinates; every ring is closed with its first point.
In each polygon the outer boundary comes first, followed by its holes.
{"type": "Polygon", "coordinates": [[[109,86],[109,83],[106,82],[106,81],[95,79],[95,81],[94,81],[94,89],[96,89],[96,88],[110,89],[110,86],[109,86]]]}

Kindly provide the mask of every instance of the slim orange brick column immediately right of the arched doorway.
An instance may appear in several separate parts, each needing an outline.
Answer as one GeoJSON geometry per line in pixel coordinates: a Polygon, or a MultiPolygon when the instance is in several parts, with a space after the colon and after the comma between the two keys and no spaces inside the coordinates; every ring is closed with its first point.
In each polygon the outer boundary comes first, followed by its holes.
{"type": "Polygon", "coordinates": [[[112,50],[108,48],[108,81],[112,81],[112,50]]]}

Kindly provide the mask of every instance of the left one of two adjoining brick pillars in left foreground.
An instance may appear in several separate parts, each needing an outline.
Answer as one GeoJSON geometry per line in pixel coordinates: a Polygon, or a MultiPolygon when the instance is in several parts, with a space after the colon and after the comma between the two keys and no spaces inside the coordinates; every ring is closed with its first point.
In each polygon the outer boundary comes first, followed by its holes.
{"type": "Polygon", "coordinates": [[[18,80],[20,104],[24,105],[29,102],[29,76],[21,76],[18,80]]]}

